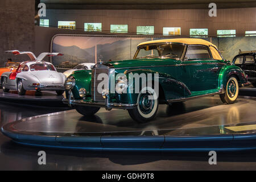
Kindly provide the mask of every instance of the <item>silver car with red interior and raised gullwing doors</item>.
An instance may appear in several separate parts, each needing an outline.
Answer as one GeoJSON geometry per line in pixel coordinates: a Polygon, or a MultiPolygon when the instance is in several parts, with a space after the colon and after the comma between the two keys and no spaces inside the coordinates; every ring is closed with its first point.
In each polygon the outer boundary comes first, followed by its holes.
{"type": "Polygon", "coordinates": [[[5,72],[1,76],[4,92],[18,90],[19,95],[24,95],[26,90],[55,90],[57,95],[64,93],[65,75],[58,73],[55,67],[48,62],[42,61],[45,56],[60,56],[60,53],[41,53],[35,57],[32,52],[6,51],[15,55],[27,54],[29,61],[20,63],[15,72],[5,72]]]}

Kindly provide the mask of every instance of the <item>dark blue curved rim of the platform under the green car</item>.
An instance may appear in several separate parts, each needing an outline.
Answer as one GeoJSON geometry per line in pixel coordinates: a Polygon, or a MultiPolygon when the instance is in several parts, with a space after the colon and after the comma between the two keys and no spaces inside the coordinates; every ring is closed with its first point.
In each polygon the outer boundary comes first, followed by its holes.
{"type": "Polygon", "coordinates": [[[256,149],[256,134],[195,136],[109,137],[27,135],[1,131],[14,142],[28,146],[107,151],[240,151],[256,149]]]}

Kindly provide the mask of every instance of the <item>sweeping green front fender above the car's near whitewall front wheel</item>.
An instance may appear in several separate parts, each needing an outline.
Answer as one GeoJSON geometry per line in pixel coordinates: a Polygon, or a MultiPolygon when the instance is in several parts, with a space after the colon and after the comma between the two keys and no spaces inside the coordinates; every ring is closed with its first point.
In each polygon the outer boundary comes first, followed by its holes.
{"type": "MultiPolygon", "coordinates": [[[[172,77],[171,75],[168,75],[167,73],[160,73],[156,71],[152,71],[150,69],[128,69],[125,72],[125,75],[127,78],[129,78],[129,73],[138,73],[138,75],[145,73],[151,73],[152,74],[152,84],[154,84],[155,78],[154,74],[157,73],[159,75],[158,77],[158,84],[159,84],[159,97],[163,98],[164,100],[172,100],[176,98],[181,97],[187,97],[191,95],[191,91],[188,89],[188,87],[181,82],[180,80],[177,80],[176,78],[172,77]],[[161,93],[162,90],[162,93],[161,93]],[[160,94],[163,94],[164,96],[160,96],[160,94]]],[[[148,78],[146,77],[146,80],[148,78]]],[[[150,81],[150,80],[147,80],[150,81]]],[[[120,95],[120,99],[129,104],[137,103],[137,97],[138,94],[135,94],[131,92],[132,94],[129,94],[129,89],[131,89],[131,86],[135,84],[135,80],[133,80],[132,83],[129,83],[129,86],[127,87],[127,93],[123,93],[120,95]]],[[[140,82],[141,86],[141,82],[140,82]]],[[[134,91],[134,90],[133,90],[134,91]]]]}

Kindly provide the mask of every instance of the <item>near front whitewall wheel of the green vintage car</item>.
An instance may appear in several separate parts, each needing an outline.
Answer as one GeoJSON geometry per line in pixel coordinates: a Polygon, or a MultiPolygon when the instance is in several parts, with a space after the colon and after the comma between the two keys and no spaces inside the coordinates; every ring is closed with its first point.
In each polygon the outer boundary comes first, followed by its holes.
{"type": "Polygon", "coordinates": [[[146,123],[154,119],[159,105],[154,89],[142,89],[138,95],[137,105],[136,108],[128,110],[131,118],[138,123],[146,123]]]}

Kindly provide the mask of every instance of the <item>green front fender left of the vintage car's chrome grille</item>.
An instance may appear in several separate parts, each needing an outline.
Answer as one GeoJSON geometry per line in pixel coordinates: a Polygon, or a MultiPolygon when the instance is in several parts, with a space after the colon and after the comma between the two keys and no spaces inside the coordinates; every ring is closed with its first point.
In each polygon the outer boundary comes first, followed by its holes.
{"type": "MultiPolygon", "coordinates": [[[[76,84],[72,89],[75,99],[81,99],[79,97],[79,89],[85,88],[87,94],[91,92],[90,82],[92,80],[92,71],[91,70],[79,70],[75,71],[71,76],[75,77],[76,84]]],[[[66,90],[67,92],[67,90],[66,90]]],[[[67,94],[67,93],[66,93],[67,94]]]]}

